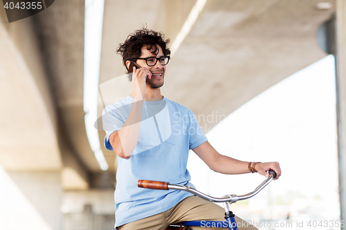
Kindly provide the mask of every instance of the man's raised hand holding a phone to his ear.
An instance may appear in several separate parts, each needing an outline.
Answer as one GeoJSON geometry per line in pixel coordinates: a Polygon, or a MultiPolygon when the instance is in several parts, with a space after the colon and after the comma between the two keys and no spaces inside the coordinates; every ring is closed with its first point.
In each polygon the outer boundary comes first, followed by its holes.
{"type": "Polygon", "coordinates": [[[136,99],[145,99],[145,93],[147,92],[145,77],[148,79],[152,78],[152,73],[150,73],[149,68],[142,67],[136,69],[136,67],[134,67],[131,85],[134,88],[136,99]]]}

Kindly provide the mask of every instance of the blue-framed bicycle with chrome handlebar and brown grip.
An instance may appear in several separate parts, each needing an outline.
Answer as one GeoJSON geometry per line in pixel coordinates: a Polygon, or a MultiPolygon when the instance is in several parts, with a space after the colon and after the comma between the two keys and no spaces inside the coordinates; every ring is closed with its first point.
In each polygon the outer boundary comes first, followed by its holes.
{"type": "Polygon", "coordinates": [[[208,226],[218,226],[221,228],[228,228],[229,230],[237,230],[237,222],[235,221],[235,215],[232,211],[230,211],[230,204],[233,204],[237,202],[238,200],[246,200],[249,198],[252,198],[254,195],[259,193],[262,189],[264,189],[265,186],[267,186],[273,178],[276,178],[276,173],[273,170],[268,171],[269,176],[260,184],[260,186],[257,186],[257,188],[252,191],[251,193],[247,193],[244,195],[224,195],[222,198],[213,198],[209,195],[206,195],[204,193],[201,193],[200,191],[191,188],[190,186],[183,186],[183,185],[177,185],[177,184],[170,184],[168,182],[160,182],[160,181],[153,181],[153,180],[138,180],[138,187],[145,188],[145,189],[161,189],[161,190],[182,190],[187,191],[189,193],[192,193],[194,195],[199,196],[200,198],[203,198],[204,200],[209,200],[211,202],[223,202],[224,208],[225,208],[225,219],[226,222],[222,221],[208,221],[208,220],[193,220],[193,221],[186,221],[181,222],[179,224],[171,224],[170,227],[168,227],[166,230],[169,229],[188,229],[188,227],[208,227],[208,226]]]}

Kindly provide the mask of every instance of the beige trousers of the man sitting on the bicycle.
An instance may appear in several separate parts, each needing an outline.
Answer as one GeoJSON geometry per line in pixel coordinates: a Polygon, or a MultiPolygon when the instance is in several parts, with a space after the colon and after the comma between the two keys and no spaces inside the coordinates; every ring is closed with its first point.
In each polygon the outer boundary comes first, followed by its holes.
{"type": "MultiPolygon", "coordinates": [[[[214,220],[224,221],[225,210],[219,205],[203,200],[197,196],[190,196],[185,198],[176,206],[172,207],[163,213],[149,216],[128,224],[124,224],[119,227],[119,230],[165,230],[170,224],[179,223],[183,221],[191,220],[214,220]]],[[[239,230],[253,230],[257,229],[251,224],[247,224],[241,218],[235,216],[237,226],[239,230]]],[[[192,230],[207,230],[212,228],[206,227],[190,227],[192,230]]],[[[219,230],[225,230],[222,228],[214,228],[219,230]]]]}

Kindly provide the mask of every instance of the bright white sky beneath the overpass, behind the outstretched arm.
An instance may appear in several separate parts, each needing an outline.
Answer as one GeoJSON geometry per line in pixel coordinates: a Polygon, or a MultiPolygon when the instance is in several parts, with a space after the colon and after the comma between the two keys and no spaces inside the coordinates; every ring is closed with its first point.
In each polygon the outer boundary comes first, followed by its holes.
{"type": "MultiPolygon", "coordinates": [[[[325,206],[325,215],[338,218],[334,56],[268,88],[228,115],[206,136],[223,155],[280,163],[280,179],[251,198],[250,206],[280,198],[289,204],[286,209],[299,211],[313,207],[312,203],[319,199],[325,206]]],[[[192,151],[188,170],[192,184],[215,197],[251,192],[265,180],[258,173],[215,173],[192,151]]]]}

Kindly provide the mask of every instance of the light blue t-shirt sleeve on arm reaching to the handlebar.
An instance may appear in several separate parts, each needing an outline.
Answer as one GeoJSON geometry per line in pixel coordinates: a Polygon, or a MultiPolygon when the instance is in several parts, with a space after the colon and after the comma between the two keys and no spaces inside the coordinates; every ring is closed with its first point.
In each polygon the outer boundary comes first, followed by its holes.
{"type": "Polygon", "coordinates": [[[190,149],[194,149],[208,141],[208,138],[206,135],[204,135],[201,126],[199,126],[196,116],[190,110],[189,117],[190,127],[188,129],[188,133],[190,135],[190,149]]]}

